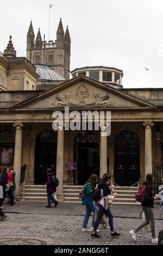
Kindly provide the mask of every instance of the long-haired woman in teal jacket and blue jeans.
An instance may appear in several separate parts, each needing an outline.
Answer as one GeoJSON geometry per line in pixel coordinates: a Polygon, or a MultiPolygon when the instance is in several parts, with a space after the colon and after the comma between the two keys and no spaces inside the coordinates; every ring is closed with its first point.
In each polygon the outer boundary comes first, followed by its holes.
{"type": "MultiPolygon", "coordinates": [[[[95,205],[92,199],[92,193],[95,191],[95,187],[97,184],[97,175],[92,174],[90,178],[86,181],[84,186],[85,197],[82,200],[82,204],[86,206],[84,221],[83,221],[83,231],[91,232],[95,223],[95,211],[98,210],[98,207],[95,205]],[[91,212],[93,212],[92,218],[92,227],[91,229],[87,228],[87,223],[89,221],[89,217],[91,216],[91,212]]],[[[99,230],[98,230],[99,232],[99,230]]]]}

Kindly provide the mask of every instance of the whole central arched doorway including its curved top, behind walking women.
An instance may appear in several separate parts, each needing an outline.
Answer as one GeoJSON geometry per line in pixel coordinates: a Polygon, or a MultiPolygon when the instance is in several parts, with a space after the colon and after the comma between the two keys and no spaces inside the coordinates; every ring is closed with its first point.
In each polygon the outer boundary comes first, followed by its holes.
{"type": "Polygon", "coordinates": [[[89,176],[99,176],[98,137],[92,131],[80,131],[74,141],[74,160],[77,163],[75,184],[84,184],[89,176]]]}

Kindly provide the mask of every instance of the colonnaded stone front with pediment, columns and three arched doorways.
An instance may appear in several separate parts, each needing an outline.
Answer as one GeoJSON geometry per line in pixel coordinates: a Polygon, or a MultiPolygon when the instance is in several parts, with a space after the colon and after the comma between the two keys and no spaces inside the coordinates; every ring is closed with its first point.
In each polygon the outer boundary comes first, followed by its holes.
{"type": "Polygon", "coordinates": [[[154,162],[162,164],[163,140],[156,140],[155,131],[158,125],[163,130],[163,89],[117,89],[79,75],[47,91],[11,95],[0,93],[1,131],[5,124],[10,131],[7,141],[1,136],[1,160],[6,161],[1,165],[14,164],[17,184],[21,164],[27,164],[26,181],[39,185],[45,184],[46,168],[51,167],[59,178],[58,196],[63,200],[63,185],[70,182],[68,162],[76,162],[73,184],[83,184],[92,173],[108,172],[121,186],[145,179],[154,162]],[[17,97],[21,100],[15,102],[17,97]],[[100,129],[65,130],[65,106],[70,112],[111,111],[110,136],[102,137],[100,129]],[[52,128],[54,111],[63,113],[58,131],[52,128]]]}

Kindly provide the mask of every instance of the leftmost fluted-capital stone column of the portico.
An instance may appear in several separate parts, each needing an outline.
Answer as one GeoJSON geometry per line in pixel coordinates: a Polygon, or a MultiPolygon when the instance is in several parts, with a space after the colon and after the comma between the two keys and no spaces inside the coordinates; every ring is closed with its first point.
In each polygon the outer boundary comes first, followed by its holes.
{"type": "Polygon", "coordinates": [[[14,170],[16,171],[16,196],[20,196],[21,159],[22,159],[22,123],[15,123],[15,150],[14,150],[14,170]]]}

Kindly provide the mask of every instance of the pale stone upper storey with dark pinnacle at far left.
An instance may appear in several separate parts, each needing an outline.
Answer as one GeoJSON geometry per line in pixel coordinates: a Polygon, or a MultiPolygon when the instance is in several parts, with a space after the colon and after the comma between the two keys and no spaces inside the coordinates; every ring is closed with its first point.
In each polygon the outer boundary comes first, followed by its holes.
{"type": "Polygon", "coordinates": [[[36,90],[36,68],[27,58],[16,57],[11,38],[0,57],[0,90],[36,90]]]}

